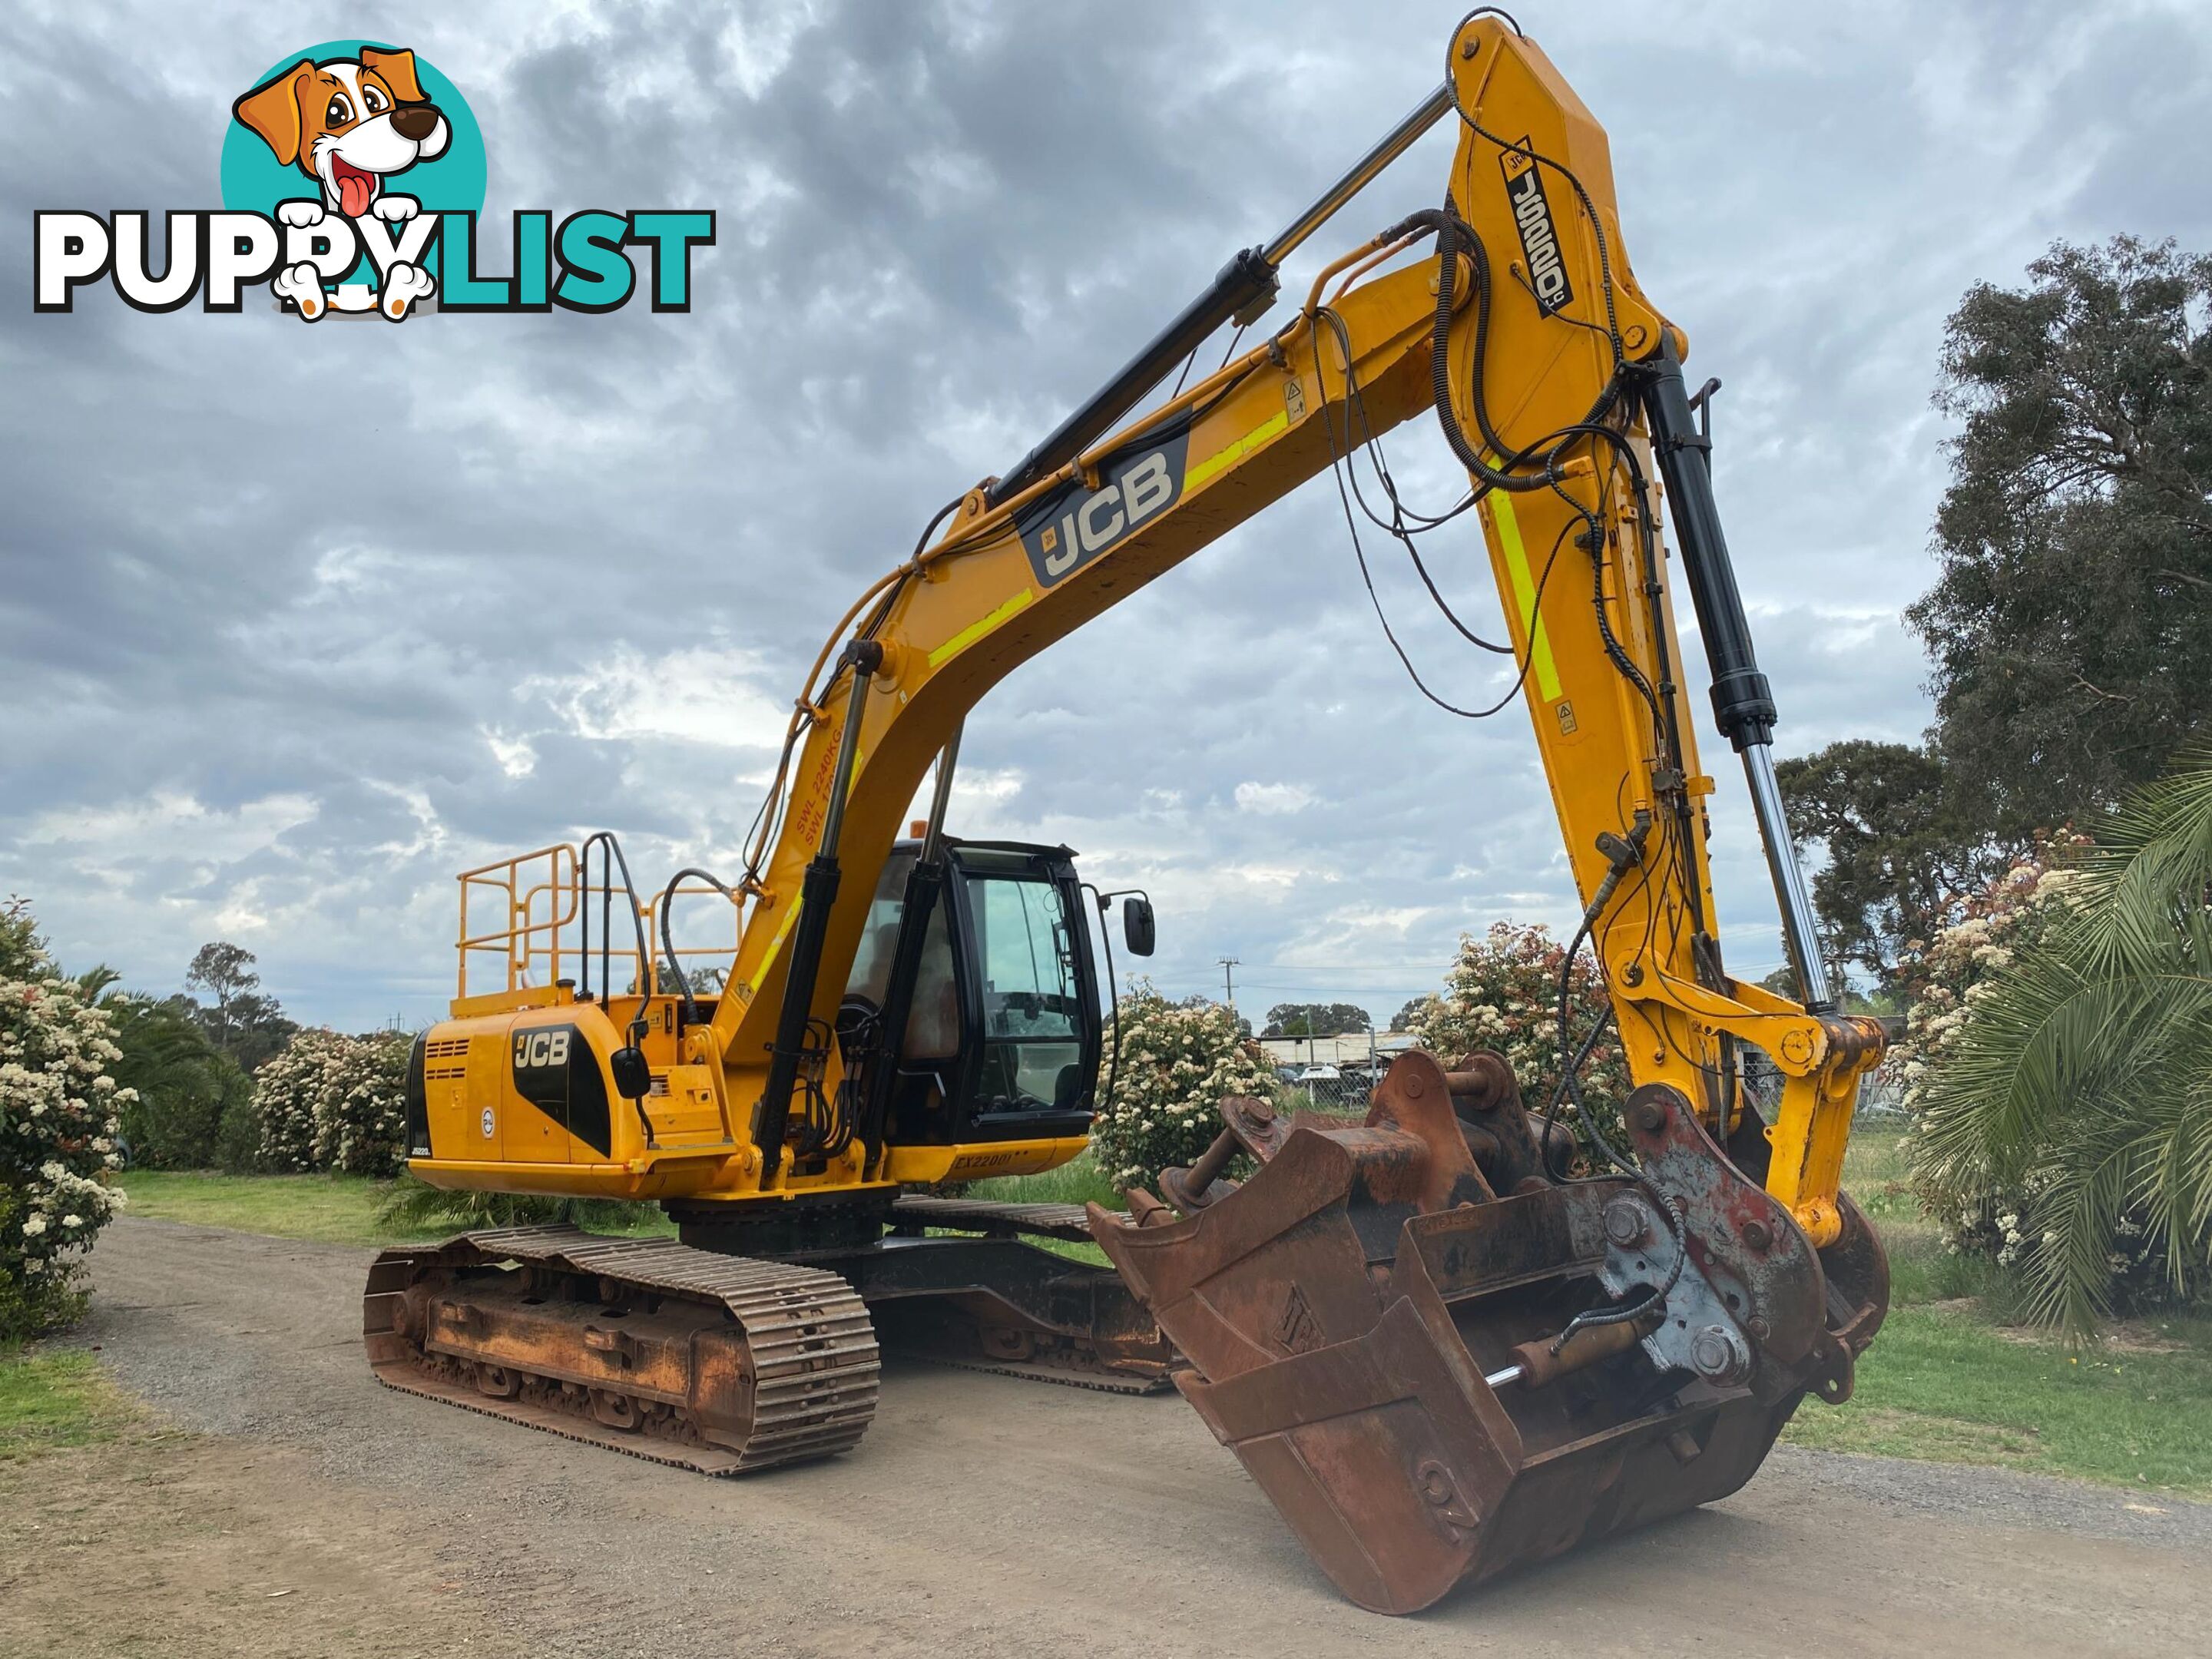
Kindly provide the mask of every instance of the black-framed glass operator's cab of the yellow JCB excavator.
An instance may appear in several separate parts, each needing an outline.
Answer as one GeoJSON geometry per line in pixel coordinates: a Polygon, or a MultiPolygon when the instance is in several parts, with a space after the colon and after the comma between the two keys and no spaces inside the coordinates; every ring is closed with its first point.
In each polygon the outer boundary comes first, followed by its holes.
{"type": "MultiPolygon", "coordinates": [[[[920,841],[883,865],[838,1006],[847,1060],[878,1046],[891,1002],[920,841]]],[[[896,1046],[894,1146],[1082,1135],[1097,1093],[1102,1015],[1075,854],[1020,841],[945,838],[905,1040],[896,1046]]]]}

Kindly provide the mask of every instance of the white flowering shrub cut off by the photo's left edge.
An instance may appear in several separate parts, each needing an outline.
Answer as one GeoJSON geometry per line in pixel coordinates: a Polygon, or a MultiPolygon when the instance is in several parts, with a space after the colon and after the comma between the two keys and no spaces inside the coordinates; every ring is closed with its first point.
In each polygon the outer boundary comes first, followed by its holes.
{"type": "Polygon", "coordinates": [[[0,905],[0,1340],[84,1307],[84,1252],[124,1203],[108,1015],[62,978],[20,900],[0,905]]]}

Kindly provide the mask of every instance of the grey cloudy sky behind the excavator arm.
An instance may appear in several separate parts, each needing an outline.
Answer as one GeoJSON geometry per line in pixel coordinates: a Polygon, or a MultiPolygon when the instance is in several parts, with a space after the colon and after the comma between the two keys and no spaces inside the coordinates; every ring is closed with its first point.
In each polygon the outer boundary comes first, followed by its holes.
{"type": "MultiPolygon", "coordinates": [[[[0,24],[0,894],[166,991],[232,938],[316,1022],[425,1022],[456,869],[582,830],[734,863],[796,677],[1004,469],[1442,71],[1460,7],[11,7],[0,24]],[[400,327],[31,312],[35,208],[212,208],[230,100],[380,31],[513,208],[714,208],[692,314],[400,327]]],[[[1613,135],[1637,274],[1719,374],[1719,489],[1783,752],[1909,739],[1942,319],[2055,237],[2212,248],[2212,4],[1520,7],[1613,135]]],[[[1285,288],[1438,199],[1405,157],[1285,288]]],[[[1391,445],[1449,498],[1422,422],[1391,445]]],[[[1495,617],[1480,533],[1429,546],[1495,617]]],[[[1385,544],[1385,551],[1387,544],[1385,544]]],[[[1413,577],[1433,684],[1482,697],[1413,577]]],[[[1703,699],[1699,699],[1703,703],[1703,699]]],[[[1741,781],[1717,880],[1778,962],[1741,781]]],[[[1157,980],[1387,1018],[1455,936],[1571,918],[1526,717],[1429,708],[1329,482],[1009,679],[953,827],[1150,887],[1157,980]]],[[[653,878],[657,885],[657,876],[653,878]]]]}

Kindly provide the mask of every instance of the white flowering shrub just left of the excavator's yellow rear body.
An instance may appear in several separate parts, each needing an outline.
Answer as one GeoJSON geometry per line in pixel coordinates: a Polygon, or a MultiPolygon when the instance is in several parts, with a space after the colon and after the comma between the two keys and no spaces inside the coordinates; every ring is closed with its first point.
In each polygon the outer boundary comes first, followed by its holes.
{"type": "Polygon", "coordinates": [[[261,1166],[398,1175],[407,1161],[407,1051],[411,1037],[301,1031],[254,1073],[261,1166]]]}

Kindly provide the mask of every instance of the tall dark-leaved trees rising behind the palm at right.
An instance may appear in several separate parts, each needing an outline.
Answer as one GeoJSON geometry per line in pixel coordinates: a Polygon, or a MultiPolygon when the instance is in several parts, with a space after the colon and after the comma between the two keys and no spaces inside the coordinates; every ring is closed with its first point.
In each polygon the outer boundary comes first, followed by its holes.
{"type": "Polygon", "coordinates": [[[2115,237],[2028,279],[1978,283],[1944,330],[1936,407],[1962,427],[1905,613],[1936,723],[1781,765],[1827,949],[1882,993],[2039,834],[2093,830],[2205,737],[2212,261],[2115,237]]]}

